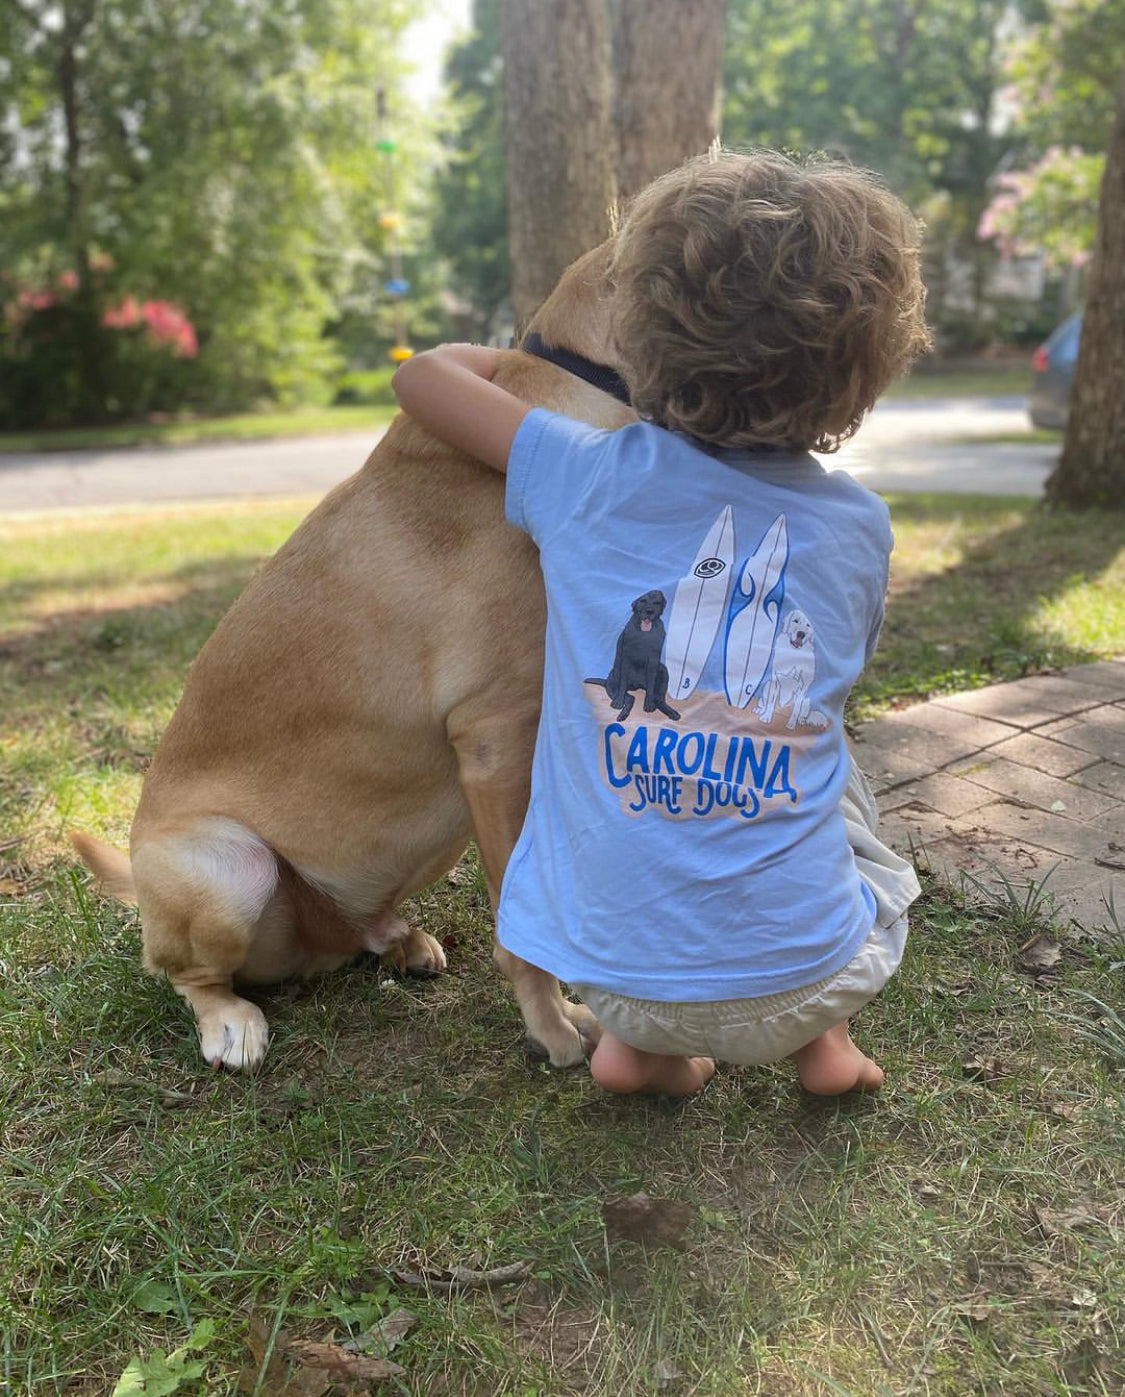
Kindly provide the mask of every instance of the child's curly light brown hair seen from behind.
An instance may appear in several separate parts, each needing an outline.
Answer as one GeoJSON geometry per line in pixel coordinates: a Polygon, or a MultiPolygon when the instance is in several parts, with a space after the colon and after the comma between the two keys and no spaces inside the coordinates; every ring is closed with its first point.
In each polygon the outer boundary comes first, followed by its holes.
{"type": "Polygon", "coordinates": [[[839,161],[713,151],[661,176],[611,272],[633,407],[704,441],[834,451],[929,346],[920,243],[839,161]]]}

